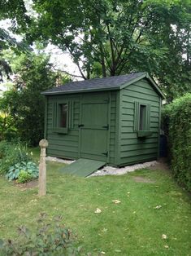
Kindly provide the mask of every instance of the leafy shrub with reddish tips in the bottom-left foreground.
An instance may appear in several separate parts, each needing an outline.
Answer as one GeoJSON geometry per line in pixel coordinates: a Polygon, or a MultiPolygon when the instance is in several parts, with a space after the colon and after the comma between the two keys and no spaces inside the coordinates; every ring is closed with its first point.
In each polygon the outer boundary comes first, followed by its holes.
{"type": "Polygon", "coordinates": [[[0,253],[11,255],[80,255],[80,247],[75,246],[72,232],[61,223],[62,218],[55,217],[47,222],[46,214],[37,220],[35,231],[27,227],[18,227],[19,236],[15,240],[0,241],[0,253]]]}

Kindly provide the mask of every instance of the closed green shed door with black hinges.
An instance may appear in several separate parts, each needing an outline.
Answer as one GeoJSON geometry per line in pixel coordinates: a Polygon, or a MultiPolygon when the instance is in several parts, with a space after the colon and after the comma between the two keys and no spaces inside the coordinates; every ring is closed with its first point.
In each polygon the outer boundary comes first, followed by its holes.
{"type": "Polygon", "coordinates": [[[106,161],[108,129],[108,103],[82,103],[80,157],[106,161]]]}

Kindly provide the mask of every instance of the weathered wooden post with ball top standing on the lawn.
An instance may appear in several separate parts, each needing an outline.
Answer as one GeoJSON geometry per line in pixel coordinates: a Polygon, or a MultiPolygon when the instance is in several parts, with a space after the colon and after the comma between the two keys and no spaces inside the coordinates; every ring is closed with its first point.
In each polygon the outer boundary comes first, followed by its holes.
{"type": "Polygon", "coordinates": [[[39,164],[39,178],[38,178],[38,195],[46,196],[46,148],[48,141],[41,139],[39,146],[41,147],[41,157],[39,164]]]}

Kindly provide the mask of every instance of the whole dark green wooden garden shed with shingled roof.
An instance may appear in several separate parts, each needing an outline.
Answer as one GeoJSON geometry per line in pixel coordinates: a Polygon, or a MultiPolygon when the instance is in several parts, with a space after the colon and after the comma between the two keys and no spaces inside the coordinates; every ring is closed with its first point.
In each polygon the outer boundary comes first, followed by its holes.
{"type": "Polygon", "coordinates": [[[69,82],[42,94],[49,156],[111,166],[157,159],[164,95],[148,73],[69,82]]]}

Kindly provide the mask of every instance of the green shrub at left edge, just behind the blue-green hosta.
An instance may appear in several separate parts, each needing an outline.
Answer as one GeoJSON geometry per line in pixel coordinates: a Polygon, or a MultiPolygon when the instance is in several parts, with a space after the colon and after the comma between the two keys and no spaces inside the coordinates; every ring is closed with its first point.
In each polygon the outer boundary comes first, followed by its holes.
{"type": "Polygon", "coordinates": [[[0,142],[0,174],[5,174],[11,166],[21,161],[31,161],[27,148],[21,143],[0,142]]]}

